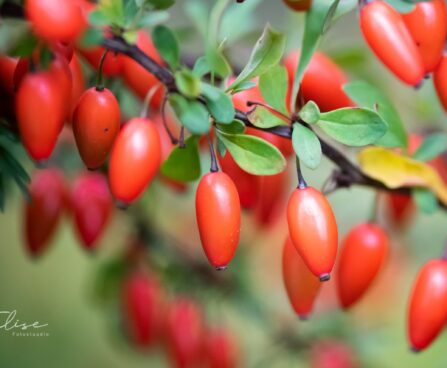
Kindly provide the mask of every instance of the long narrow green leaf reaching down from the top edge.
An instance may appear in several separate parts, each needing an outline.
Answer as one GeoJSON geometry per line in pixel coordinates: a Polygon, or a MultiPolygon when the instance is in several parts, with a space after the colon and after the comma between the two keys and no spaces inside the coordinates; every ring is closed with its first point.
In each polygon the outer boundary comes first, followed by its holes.
{"type": "Polygon", "coordinates": [[[294,110],[296,96],[303,79],[304,71],[309,65],[312,55],[317,49],[318,41],[325,29],[326,22],[330,21],[330,16],[333,14],[335,7],[339,0],[314,0],[310,10],[306,13],[306,20],[304,26],[304,35],[301,45],[300,59],[296,68],[295,78],[293,81],[291,110],[294,110]],[[328,17],[329,16],[329,17],[328,17]]]}

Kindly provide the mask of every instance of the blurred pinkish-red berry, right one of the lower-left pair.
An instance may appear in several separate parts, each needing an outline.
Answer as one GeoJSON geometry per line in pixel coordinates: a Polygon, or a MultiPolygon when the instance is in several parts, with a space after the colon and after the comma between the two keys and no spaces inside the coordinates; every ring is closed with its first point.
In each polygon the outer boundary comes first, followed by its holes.
{"type": "Polygon", "coordinates": [[[86,249],[93,249],[104,232],[113,210],[112,196],[104,176],[81,175],[71,192],[76,231],[86,249]]]}

